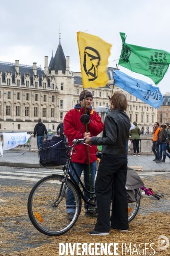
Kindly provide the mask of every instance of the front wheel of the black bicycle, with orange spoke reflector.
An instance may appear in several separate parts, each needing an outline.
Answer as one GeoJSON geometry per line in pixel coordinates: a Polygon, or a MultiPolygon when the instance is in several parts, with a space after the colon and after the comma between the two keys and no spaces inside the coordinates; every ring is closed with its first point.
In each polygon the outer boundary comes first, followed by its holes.
{"type": "Polygon", "coordinates": [[[28,213],[34,227],[45,235],[63,235],[76,223],[81,210],[81,197],[75,185],[67,180],[66,191],[63,188],[63,176],[52,175],[41,179],[32,188],[28,199],[28,213]],[[75,215],[72,221],[67,221],[66,195],[71,193],[74,202],[75,215]],[[64,197],[61,200],[64,193],[64,197]],[[59,198],[58,198],[59,197],[59,198]],[[58,199],[58,206],[54,202],[58,199]]]}

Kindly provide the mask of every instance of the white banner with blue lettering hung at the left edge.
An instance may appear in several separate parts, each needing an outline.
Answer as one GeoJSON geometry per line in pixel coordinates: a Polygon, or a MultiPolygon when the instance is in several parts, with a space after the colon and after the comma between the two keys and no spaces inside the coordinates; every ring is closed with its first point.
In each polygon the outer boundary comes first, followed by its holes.
{"type": "Polygon", "coordinates": [[[3,151],[25,144],[30,137],[27,132],[3,132],[3,151]]]}

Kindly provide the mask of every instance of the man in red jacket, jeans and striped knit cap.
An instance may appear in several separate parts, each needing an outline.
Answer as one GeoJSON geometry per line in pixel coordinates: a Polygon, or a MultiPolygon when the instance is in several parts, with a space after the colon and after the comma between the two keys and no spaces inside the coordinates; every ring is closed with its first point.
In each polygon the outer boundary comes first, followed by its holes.
{"type": "MultiPolygon", "coordinates": [[[[72,144],[73,139],[75,138],[84,138],[85,136],[96,136],[100,132],[103,131],[104,124],[101,122],[101,117],[92,109],[92,93],[90,91],[85,90],[85,97],[86,97],[86,110],[87,115],[89,115],[90,120],[87,124],[88,132],[86,132],[86,126],[84,125],[83,129],[81,130],[82,123],[80,121],[81,115],[85,114],[85,104],[84,104],[84,92],[82,91],[79,99],[80,103],[76,104],[74,109],[69,110],[69,112],[64,117],[64,134],[68,138],[69,143],[72,144]],[[79,134],[81,130],[81,133],[79,134]],[[79,135],[78,135],[79,134],[79,135]]],[[[81,177],[82,171],[84,171],[84,183],[85,188],[89,191],[89,168],[88,168],[88,155],[87,155],[87,146],[84,144],[79,144],[75,146],[76,154],[72,155],[72,164],[75,170],[78,173],[78,176],[81,177]]],[[[97,146],[89,147],[90,153],[90,170],[91,170],[91,180],[92,180],[92,192],[94,192],[95,186],[95,174],[96,174],[96,160],[97,157],[95,156],[97,152],[97,146]]],[[[70,172],[76,182],[78,183],[78,179],[75,176],[72,167],[70,166],[70,172]]],[[[89,200],[90,196],[86,192],[84,192],[84,196],[86,200],[89,200]]],[[[66,204],[69,205],[67,207],[67,220],[72,221],[72,218],[75,214],[75,203],[73,194],[71,191],[67,191],[67,199],[66,204]]],[[[90,217],[91,215],[85,207],[85,217],[90,217]]],[[[95,216],[94,216],[95,217],[95,216]]]]}

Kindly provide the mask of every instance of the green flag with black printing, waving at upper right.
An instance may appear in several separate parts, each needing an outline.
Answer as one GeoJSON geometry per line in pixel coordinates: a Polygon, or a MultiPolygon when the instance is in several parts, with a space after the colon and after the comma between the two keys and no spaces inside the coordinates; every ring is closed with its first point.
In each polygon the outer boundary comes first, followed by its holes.
{"type": "Polygon", "coordinates": [[[125,33],[120,33],[123,47],[118,64],[133,72],[150,77],[157,85],[164,77],[169,64],[170,53],[125,43],[125,33]]]}

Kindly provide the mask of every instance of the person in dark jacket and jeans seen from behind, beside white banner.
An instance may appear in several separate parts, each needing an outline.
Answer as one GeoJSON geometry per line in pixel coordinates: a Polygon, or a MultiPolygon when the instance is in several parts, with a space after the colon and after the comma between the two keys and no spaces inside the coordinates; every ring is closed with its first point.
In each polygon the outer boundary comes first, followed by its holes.
{"type": "Polygon", "coordinates": [[[42,123],[42,119],[39,118],[38,123],[35,125],[35,128],[34,128],[34,138],[35,138],[35,135],[37,134],[38,149],[40,148],[40,144],[43,144],[44,133],[47,135],[48,132],[45,124],[42,123]]]}

